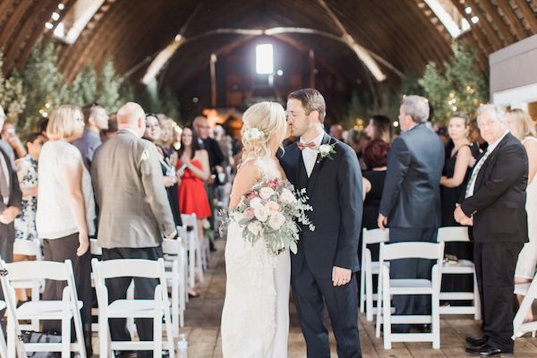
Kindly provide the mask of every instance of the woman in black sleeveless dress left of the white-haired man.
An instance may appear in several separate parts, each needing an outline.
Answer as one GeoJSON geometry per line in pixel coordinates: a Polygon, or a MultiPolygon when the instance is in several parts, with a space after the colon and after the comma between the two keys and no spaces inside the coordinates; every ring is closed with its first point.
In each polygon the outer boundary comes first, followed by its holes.
{"type": "MultiPolygon", "coordinates": [[[[453,115],[448,122],[447,132],[451,145],[446,148],[446,161],[440,177],[440,198],[442,203],[442,226],[459,226],[453,217],[453,210],[465,191],[475,159],[468,140],[470,121],[465,114],[453,115]]],[[[473,243],[446,243],[444,252],[451,260],[473,260],[473,243]]],[[[442,291],[472,292],[473,275],[443,275],[442,291]]],[[[460,300],[449,304],[465,304],[460,300]]]]}

